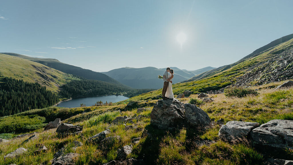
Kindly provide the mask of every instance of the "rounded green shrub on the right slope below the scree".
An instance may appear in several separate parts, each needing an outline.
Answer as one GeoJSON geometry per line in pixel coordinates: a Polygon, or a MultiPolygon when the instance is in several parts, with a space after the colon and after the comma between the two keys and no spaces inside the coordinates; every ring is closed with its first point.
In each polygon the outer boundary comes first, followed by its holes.
{"type": "Polygon", "coordinates": [[[227,97],[246,97],[247,95],[257,96],[259,93],[255,90],[243,87],[231,87],[224,90],[224,94],[227,97]]]}

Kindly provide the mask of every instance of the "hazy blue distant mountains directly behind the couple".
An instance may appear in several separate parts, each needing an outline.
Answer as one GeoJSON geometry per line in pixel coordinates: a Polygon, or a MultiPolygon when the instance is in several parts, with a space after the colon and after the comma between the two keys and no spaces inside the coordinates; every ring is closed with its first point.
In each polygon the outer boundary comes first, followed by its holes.
{"type": "MultiPolygon", "coordinates": [[[[210,69],[214,69],[212,67],[206,67],[199,70],[181,70],[177,67],[170,67],[174,70],[174,78],[173,84],[182,82],[187,80],[196,74],[205,72],[210,69]]],[[[110,70],[108,72],[103,72],[104,74],[110,76],[111,78],[119,81],[122,84],[133,88],[151,88],[151,89],[159,89],[162,87],[162,80],[158,79],[158,75],[163,75],[166,71],[166,68],[155,68],[155,67],[145,67],[145,68],[118,68],[114,70],[110,70]]]]}

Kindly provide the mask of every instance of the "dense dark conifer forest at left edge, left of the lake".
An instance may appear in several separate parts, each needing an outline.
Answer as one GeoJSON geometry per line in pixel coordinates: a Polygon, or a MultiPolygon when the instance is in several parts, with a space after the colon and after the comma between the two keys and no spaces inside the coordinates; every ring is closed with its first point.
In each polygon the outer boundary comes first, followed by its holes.
{"type": "Polygon", "coordinates": [[[0,83],[0,116],[13,115],[30,109],[45,108],[59,101],[46,87],[13,78],[0,83]]]}

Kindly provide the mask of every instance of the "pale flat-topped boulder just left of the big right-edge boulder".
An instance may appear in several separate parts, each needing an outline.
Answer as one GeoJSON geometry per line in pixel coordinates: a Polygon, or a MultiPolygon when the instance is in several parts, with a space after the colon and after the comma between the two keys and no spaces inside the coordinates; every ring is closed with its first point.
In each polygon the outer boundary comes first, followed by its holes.
{"type": "Polygon", "coordinates": [[[249,132],[258,126],[259,123],[230,121],[222,125],[219,130],[219,137],[232,142],[243,137],[246,138],[249,132]]]}

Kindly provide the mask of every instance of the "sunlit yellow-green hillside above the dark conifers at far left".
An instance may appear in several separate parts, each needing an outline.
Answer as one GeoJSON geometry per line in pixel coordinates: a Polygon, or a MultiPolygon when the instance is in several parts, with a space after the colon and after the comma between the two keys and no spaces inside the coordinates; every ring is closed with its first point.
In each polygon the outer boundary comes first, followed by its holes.
{"type": "Polygon", "coordinates": [[[30,60],[0,53],[0,76],[38,82],[47,89],[58,92],[58,87],[71,80],[79,80],[74,75],[63,73],[30,60]]]}

